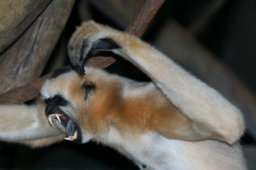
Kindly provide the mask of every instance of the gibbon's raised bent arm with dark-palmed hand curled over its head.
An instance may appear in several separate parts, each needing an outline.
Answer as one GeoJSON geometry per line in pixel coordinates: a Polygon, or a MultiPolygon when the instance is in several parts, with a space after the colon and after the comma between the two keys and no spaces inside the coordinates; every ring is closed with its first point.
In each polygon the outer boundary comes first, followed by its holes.
{"type": "Polygon", "coordinates": [[[232,144],[243,134],[243,115],[234,105],[141,39],[93,21],[85,22],[68,45],[70,60],[79,73],[83,73],[92,50],[114,52],[146,73],[193,122],[194,129],[204,129],[193,140],[211,138],[232,144]]]}

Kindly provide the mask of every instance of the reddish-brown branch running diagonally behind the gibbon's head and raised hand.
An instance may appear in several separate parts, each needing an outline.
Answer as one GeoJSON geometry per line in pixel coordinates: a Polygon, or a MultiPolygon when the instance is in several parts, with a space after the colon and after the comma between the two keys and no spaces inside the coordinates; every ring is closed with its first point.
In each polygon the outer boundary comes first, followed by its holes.
{"type": "MultiPolygon", "coordinates": [[[[127,31],[140,37],[163,2],[164,0],[148,0],[141,8],[140,13],[134,17],[127,27],[127,31]]],[[[112,57],[93,57],[86,62],[86,65],[104,68],[113,64],[113,62],[115,60],[112,57]]],[[[40,87],[48,77],[49,75],[47,74],[43,78],[31,81],[27,85],[9,90],[0,96],[0,103],[24,103],[38,97],[40,87]]]]}

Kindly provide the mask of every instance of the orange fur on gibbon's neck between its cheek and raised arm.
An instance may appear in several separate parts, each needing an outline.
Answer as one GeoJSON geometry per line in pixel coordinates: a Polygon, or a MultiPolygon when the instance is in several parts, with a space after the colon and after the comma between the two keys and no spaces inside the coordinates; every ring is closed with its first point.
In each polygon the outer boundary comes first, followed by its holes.
{"type": "Polygon", "coordinates": [[[120,122],[132,132],[155,131],[167,138],[184,139],[189,127],[188,118],[157,89],[142,97],[125,99],[120,122]]]}

